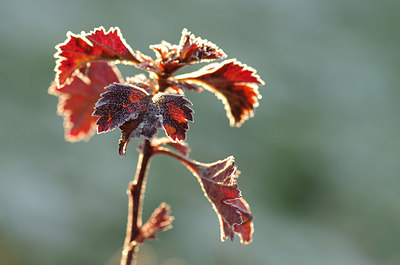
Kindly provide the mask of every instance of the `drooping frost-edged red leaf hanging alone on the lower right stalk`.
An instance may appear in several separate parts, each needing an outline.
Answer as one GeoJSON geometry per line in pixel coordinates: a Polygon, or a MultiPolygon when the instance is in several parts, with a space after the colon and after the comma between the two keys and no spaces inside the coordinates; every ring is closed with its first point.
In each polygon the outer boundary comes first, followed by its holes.
{"type": "Polygon", "coordinates": [[[233,240],[235,233],[243,245],[252,240],[253,216],[236,183],[239,172],[234,165],[234,158],[211,164],[204,164],[183,159],[184,164],[198,178],[204,195],[213,205],[221,225],[221,240],[233,240]]]}

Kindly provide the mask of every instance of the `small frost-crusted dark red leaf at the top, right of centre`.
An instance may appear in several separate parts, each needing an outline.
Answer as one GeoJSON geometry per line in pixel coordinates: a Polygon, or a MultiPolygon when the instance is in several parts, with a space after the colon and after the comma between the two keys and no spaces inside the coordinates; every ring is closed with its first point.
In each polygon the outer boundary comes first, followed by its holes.
{"type": "Polygon", "coordinates": [[[179,60],[181,63],[194,63],[215,59],[225,59],[226,54],[208,40],[196,38],[187,29],[183,29],[179,42],[179,60]]]}

